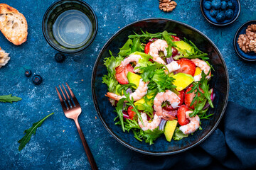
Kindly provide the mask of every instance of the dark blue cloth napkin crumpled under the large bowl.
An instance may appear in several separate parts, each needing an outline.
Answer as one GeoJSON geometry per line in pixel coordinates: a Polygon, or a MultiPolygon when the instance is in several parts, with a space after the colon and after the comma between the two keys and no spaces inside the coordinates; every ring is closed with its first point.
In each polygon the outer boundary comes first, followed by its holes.
{"type": "Polygon", "coordinates": [[[218,128],[201,145],[170,156],[137,155],[127,169],[256,169],[256,110],[228,102],[218,128]]]}

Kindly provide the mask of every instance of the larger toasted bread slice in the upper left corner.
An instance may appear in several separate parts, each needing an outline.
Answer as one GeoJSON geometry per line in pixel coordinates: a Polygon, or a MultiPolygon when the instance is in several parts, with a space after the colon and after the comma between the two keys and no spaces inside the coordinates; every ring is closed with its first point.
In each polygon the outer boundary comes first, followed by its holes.
{"type": "Polygon", "coordinates": [[[28,23],[16,8],[0,4],[0,30],[14,45],[21,45],[28,36],[28,23]]]}

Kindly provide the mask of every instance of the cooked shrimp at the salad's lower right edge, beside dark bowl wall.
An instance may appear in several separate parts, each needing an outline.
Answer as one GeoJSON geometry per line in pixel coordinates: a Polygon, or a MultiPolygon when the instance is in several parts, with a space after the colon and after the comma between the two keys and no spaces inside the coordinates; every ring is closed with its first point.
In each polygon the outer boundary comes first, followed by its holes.
{"type": "Polygon", "coordinates": [[[186,134],[186,135],[195,132],[200,126],[199,116],[196,115],[195,117],[191,118],[189,117],[189,113],[193,113],[193,112],[192,111],[186,112],[186,118],[190,120],[190,123],[188,123],[187,125],[183,125],[179,128],[183,132],[183,134],[186,134]]]}

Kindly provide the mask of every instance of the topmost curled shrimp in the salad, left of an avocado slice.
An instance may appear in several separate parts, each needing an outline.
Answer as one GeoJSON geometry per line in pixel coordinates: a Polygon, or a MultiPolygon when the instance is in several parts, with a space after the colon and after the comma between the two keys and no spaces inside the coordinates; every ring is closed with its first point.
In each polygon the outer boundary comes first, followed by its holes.
{"type": "Polygon", "coordinates": [[[161,64],[166,64],[164,60],[159,57],[159,51],[164,52],[164,55],[167,55],[167,50],[166,47],[168,47],[168,44],[165,40],[155,40],[151,45],[149,46],[149,55],[153,57],[153,60],[155,62],[161,63],[161,64]]]}

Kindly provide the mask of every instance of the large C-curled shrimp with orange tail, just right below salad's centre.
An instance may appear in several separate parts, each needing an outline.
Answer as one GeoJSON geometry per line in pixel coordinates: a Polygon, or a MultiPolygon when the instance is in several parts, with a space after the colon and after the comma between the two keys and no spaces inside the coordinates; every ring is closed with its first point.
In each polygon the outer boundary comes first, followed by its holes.
{"type": "Polygon", "coordinates": [[[170,116],[168,113],[163,111],[161,105],[164,101],[169,101],[173,108],[177,108],[180,103],[180,98],[170,90],[160,92],[156,94],[156,97],[154,98],[154,111],[156,111],[156,115],[159,115],[160,118],[164,118],[166,120],[174,120],[174,116],[170,116]]]}

